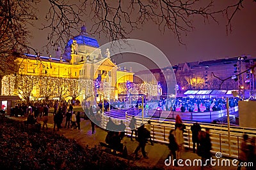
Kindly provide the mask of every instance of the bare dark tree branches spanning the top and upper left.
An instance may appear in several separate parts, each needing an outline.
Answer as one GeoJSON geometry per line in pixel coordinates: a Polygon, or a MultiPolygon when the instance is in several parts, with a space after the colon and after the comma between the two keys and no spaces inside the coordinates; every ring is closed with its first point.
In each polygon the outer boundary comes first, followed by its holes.
{"type": "MultiPolygon", "coordinates": [[[[72,38],[72,32],[89,20],[93,22],[90,27],[92,34],[104,34],[111,40],[127,38],[134,29],[140,29],[145,22],[152,22],[159,27],[159,31],[172,31],[182,43],[182,35],[194,29],[195,16],[218,22],[216,14],[222,13],[227,17],[227,30],[231,31],[232,19],[237,11],[243,8],[244,0],[231,1],[232,4],[222,6],[220,10],[214,7],[215,1],[47,0],[44,3],[48,3],[49,9],[40,29],[49,31],[46,45],[49,47],[65,45],[67,40],[72,38]]],[[[9,68],[0,68],[0,80],[4,74],[17,72],[15,57],[22,57],[24,53],[31,53],[31,50],[36,54],[39,53],[31,48],[27,39],[31,36],[28,25],[33,26],[35,20],[38,20],[36,12],[42,2],[41,0],[0,1],[0,57],[8,57],[1,59],[0,62],[9,68]],[[14,59],[9,58],[11,56],[14,59]]]]}

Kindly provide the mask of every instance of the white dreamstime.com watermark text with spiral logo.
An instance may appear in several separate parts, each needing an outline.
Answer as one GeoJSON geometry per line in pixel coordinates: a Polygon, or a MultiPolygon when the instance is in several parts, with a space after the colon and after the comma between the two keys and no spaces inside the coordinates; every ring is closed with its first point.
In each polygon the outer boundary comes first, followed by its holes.
{"type": "Polygon", "coordinates": [[[221,167],[230,167],[230,166],[241,166],[241,167],[253,167],[253,162],[239,162],[237,159],[221,159],[222,153],[216,152],[216,159],[206,159],[205,162],[202,159],[173,159],[170,156],[169,159],[164,160],[165,166],[221,166],[221,167]]]}

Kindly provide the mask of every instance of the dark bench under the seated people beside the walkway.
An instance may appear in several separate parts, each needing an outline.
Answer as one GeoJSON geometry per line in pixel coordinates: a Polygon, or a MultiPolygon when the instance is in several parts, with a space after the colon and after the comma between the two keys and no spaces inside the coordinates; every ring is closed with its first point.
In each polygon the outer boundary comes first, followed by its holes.
{"type": "Polygon", "coordinates": [[[100,146],[106,148],[106,152],[119,155],[120,157],[127,157],[128,155],[127,148],[126,146],[124,146],[123,148],[122,143],[120,143],[120,146],[116,147],[116,146],[108,145],[107,143],[100,142],[100,146]]]}

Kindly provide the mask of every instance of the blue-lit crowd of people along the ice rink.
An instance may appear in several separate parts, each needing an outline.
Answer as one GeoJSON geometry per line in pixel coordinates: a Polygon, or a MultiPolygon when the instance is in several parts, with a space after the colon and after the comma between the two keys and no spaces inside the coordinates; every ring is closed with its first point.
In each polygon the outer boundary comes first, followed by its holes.
{"type": "MultiPolygon", "coordinates": [[[[232,108],[234,106],[238,106],[239,98],[237,97],[230,97],[228,98],[229,106],[232,108]]],[[[158,100],[156,99],[150,99],[147,98],[144,99],[143,105],[144,108],[148,109],[156,109],[155,104],[152,103],[158,103],[157,108],[159,110],[167,110],[167,111],[189,111],[189,112],[207,112],[207,111],[220,111],[225,110],[227,107],[227,101],[225,97],[215,97],[211,99],[198,99],[198,98],[190,98],[190,97],[176,97],[176,99],[170,99],[166,101],[166,97],[160,97],[158,100]]],[[[141,97],[138,97],[138,99],[131,101],[131,102],[125,102],[125,101],[118,101],[118,100],[111,100],[110,106],[108,101],[104,101],[104,106],[102,106],[102,103],[99,104],[100,108],[104,108],[104,110],[113,110],[115,108],[127,108],[129,106],[130,108],[136,108],[140,109],[142,105],[141,97]]]]}

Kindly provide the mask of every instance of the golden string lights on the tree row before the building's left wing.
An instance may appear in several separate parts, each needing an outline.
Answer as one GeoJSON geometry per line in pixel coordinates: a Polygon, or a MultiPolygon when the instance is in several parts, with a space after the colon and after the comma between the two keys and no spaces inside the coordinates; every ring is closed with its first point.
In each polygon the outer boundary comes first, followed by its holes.
{"type": "MultiPolygon", "coordinates": [[[[2,80],[2,95],[19,95],[28,100],[33,91],[36,97],[45,97],[45,99],[49,99],[49,97],[77,97],[81,92],[78,81],[77,79],[50,76],[8,75],[4,76],[2,80]]],[[[92,94],[92,80],[84,85],[86,87],[83,88],[87,89],[86,94],[92,94]]]]}

